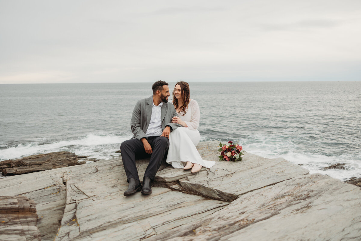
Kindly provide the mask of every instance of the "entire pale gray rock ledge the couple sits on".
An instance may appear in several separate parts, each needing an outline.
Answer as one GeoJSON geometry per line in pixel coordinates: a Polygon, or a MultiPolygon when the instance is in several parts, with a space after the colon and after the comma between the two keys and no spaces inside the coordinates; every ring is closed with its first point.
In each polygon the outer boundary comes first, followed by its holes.
{"type": "MultiPolygon", "coordinates": [[[[210,169],[162,164],[151,195],[123,196],[121,158],[7,177],[0,191],[35,202],[42,240],[361,239],[359,187],[282,158],[245,152],[241,162],[220,162],[218,143],[197,146],[216,160],[210,169]]],[[[146,166],[137,162],[141,180],[146,166]]]]}

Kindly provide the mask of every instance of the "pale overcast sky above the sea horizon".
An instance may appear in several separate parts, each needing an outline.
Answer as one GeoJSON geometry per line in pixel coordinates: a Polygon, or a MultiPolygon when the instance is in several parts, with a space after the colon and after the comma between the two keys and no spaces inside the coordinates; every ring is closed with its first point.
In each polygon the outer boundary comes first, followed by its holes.
{"type": "Polygon", "coordinates": [[[360,81],[361,0],[0,0],[0,83],[360,81]]]}

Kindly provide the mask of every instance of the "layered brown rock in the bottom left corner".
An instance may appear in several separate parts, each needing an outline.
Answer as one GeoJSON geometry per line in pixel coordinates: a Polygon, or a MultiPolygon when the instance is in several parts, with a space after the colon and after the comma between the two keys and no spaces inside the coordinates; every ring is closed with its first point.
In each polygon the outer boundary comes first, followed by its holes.
{"type": "Polygon", "coordinates": [[[35,202],[27,197],[0,196],[0,239],[40,241],[35,202]]]}

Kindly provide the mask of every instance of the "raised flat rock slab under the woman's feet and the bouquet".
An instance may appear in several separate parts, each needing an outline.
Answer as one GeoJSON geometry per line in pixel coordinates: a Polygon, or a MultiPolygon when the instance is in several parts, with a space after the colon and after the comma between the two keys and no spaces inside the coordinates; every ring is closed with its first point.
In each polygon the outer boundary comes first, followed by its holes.
{"type": "Polygon", "coordinates": [[[174,190],[232,202],[249,191],[309,173],[285,159],[266,159],[247,152],[242,161],[218,161],[215,157],[219,155],[219,146],[215,144],[203,142],[198,146],[199,152],[204,153],[204,160],[216,160],[212,168],[203,168],[192,175],[190,171],[167,167],[157,173],[155,180],[174,190]]]}

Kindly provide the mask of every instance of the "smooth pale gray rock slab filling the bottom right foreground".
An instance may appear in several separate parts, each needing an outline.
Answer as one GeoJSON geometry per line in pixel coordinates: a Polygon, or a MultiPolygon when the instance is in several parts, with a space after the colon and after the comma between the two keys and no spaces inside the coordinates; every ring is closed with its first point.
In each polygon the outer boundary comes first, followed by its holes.
{"type": "Polygon", "coordinates": [[[360,240],[360,213],[360,188],[316,173],[249,192],[197,223],[145,240],[360,240]]]}

